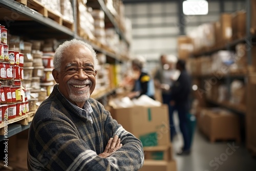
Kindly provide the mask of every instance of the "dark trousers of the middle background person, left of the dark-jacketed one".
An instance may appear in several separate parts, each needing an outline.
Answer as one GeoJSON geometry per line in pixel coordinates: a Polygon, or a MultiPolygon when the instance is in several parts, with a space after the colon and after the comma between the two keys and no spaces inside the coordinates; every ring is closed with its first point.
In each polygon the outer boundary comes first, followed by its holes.
{"type": "Polygon", "coordinates": [[[170,128],[170,140],[173,140],[174,135],[176,134],[174,120],[173,120],[173,109],[170,106],[170,95],[169,94],[162,94],[162,100],[164,104],[168,105],[168,114],[169,114],[169,128],[170,128]]]}

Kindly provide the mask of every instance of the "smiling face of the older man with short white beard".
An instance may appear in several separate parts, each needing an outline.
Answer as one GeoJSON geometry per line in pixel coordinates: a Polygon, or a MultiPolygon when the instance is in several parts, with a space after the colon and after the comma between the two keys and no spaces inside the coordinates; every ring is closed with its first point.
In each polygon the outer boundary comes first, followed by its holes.
{"type": "Polygon", "coordinates": [[[71,46],[63,52],[60,72],[53,77],[60,92],[72,103],[82,107],[95,89],[96,71],[91,51],[83,45],[71,46]]]}

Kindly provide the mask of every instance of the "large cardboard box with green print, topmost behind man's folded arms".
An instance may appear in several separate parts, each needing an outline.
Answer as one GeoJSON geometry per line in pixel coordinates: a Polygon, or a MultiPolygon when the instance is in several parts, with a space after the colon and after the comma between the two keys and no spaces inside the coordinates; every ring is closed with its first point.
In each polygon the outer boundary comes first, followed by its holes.
{"type": "Polygon", "coordinates": [[[143,146],[169,145],[170,130],[167,105],[112,108],[110,112],[125,130],[141,140],[143,146]]]}

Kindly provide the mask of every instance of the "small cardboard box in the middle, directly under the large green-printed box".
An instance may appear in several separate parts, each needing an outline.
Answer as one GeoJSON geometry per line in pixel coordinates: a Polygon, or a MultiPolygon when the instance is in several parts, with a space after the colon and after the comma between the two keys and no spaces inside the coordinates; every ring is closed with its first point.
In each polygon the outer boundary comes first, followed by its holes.
{"type": "Polygon", "coordinates": [[[173,159],[172,144],[162,146],[144,147],[145,160],[164,160],[170,161],[173,159]]]}

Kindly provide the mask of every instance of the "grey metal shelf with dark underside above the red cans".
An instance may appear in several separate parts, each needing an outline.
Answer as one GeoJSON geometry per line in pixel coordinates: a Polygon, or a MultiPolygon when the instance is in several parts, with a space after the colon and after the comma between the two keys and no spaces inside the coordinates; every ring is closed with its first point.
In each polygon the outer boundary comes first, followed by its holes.
{"type": "MultiPolygon", "coordinates": [[[[8,25],[7,28],[14,32],[19,32],[34,35],[35,37],[42,35],[40,31],[44,30],[45,33],[49,33],[49,37],[55,35],[61,38],[71,38],[74,36],[74,32],[51,18],[45,17],[39,12],[15,1],[2,0],[0,1],[0,16],[2,21],[9,23],[3,23],[8,25]],[[35,30],[34,29],[38,29],[35,30]],[[47,29],[48,28],[48,29],[47,29]],[[49,28],[51,28],[49,30],[49,28]]],[[[47,36],[43,34],[42,36],[47,36]]]]}

